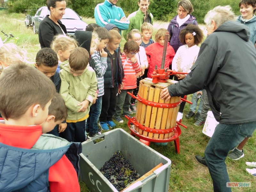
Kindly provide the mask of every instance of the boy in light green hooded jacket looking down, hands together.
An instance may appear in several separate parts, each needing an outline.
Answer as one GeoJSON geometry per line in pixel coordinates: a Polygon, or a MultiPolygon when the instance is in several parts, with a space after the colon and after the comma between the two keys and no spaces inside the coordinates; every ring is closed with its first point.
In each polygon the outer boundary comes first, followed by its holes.
{"type": "Polygon", "coordinates": [[[78,47],[70,53],[67,63],[60,64],[60,95],[68,111],[68,127],[62,137],[68,141],[86,140],[85,120],[97,91],[97,77],[88,61],[88,51],[78,47]]]}

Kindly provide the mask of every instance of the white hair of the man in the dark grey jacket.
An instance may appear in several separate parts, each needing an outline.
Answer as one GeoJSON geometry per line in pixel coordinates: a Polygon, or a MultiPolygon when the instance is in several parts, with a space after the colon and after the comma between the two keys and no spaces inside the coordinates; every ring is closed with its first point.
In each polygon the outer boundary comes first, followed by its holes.
{"type": "Polygon", "coordinates": [[[235,21],[236,15],[229,5],[217,6],[214,7],[212,10],[208,11],[208,13],[204,17],[204,22],[207,26],[211,25],[212,20],[215,21],[216,27],[218,28],[226,21],[235,21]]]}

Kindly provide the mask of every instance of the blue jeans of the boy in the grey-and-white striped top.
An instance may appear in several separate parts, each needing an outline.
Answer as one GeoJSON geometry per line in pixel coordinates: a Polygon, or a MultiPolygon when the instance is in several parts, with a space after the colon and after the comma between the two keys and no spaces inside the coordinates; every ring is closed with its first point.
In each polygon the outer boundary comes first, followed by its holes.
{"type": "Polygon", "coordinates": [[[86,122],[86,132],[95,134],[98,132],[98,121],[102,106],[102,96],[98,97],[96,103],[90,107],[89,117],[86,122]]]}

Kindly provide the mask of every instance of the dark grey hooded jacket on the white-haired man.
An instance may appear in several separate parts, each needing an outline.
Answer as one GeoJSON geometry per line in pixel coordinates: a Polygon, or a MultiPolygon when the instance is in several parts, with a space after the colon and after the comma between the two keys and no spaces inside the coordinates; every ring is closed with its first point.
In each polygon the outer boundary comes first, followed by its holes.
{"type": "Polygon", "coordinates": [[[226,21],[200,47],[191,72],[168,87],[171,96],[205,88],[215,119],[223,124],[256,121],[256,52],[243,24],[226,21]]]}

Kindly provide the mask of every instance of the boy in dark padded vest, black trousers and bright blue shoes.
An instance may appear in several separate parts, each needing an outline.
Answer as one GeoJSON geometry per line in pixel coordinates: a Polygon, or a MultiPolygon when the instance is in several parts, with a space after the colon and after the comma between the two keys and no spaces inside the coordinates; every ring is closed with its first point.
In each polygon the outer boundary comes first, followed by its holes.
{"type": "Polygon", "coordinates": [[[120,52],[116,51],[121,42],[121,35],[116,30],[110,30],[108,32],[110,39],[107,49],[105,49],[108,53],[108,67],[104,74],[104,95],[102,97],[102,103],[104,105],[101,108],[99,123],[100,127],[105,131],[109,130],[108,125],[110,128],[116,126],[113,122],[113,115],[116,112],[118,87],[122,87],[124,76],[120,52]]]}

